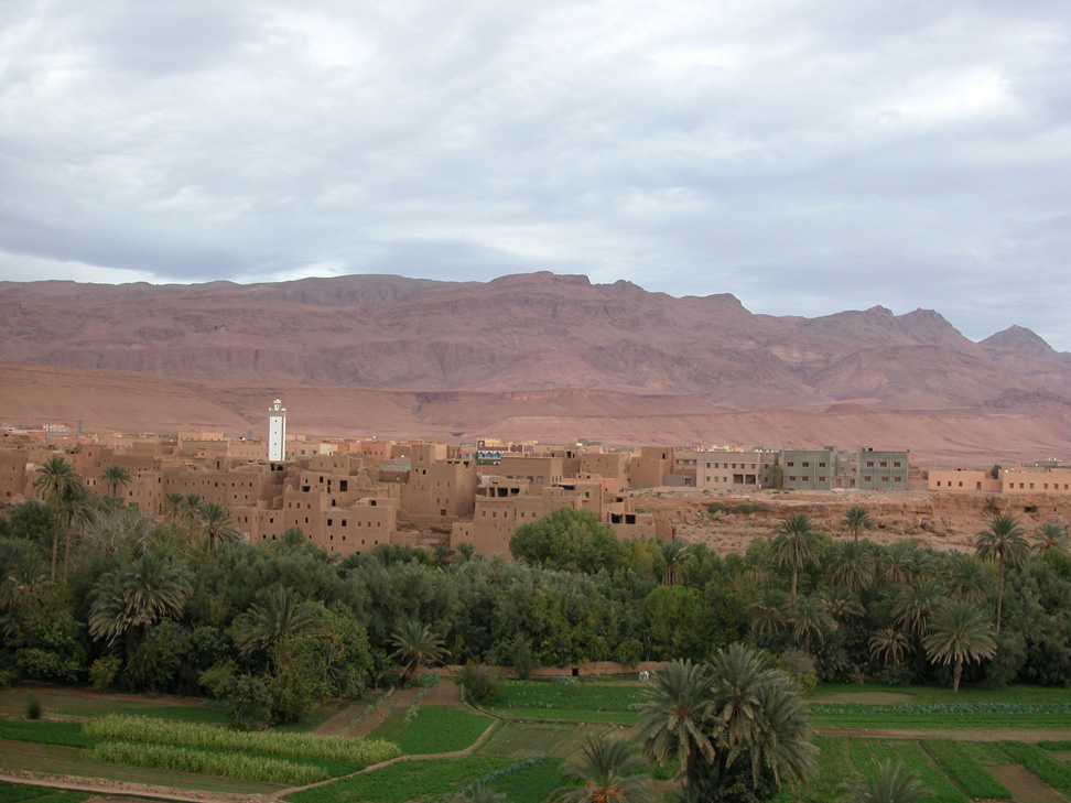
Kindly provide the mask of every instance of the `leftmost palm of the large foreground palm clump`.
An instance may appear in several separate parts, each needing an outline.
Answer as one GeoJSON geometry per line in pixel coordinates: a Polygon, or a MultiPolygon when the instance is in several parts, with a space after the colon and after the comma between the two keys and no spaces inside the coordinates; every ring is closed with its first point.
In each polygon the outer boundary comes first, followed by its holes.
{"type": "Polygon", "coordinates": [[[691,661],[671,661],[651,675],[641,695],[639,739],[645,755],[659,763],[679,756],[684,783],[694,783],[700,763],[714,758],[707,670],[691,661]]]}

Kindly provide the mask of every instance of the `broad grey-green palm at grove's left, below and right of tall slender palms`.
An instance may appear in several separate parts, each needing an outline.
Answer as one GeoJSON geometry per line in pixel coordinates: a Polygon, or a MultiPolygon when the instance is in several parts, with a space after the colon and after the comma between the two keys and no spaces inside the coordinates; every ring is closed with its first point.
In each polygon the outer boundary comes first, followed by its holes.
{"type": "Polygon", "coordinates": [[[165,616],[178,617],[193,592],[188,569],[180,563],[147,552],[130,563],[101,575],[89,595],[89,634],[113,643],[126,639],[127,660],[133,655],[134,634],[165,616]]]}

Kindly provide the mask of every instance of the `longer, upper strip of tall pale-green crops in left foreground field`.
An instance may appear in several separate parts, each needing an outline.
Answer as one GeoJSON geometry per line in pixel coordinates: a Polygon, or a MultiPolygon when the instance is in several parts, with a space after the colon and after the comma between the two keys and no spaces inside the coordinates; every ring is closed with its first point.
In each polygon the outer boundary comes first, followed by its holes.
{"type": "Polygon", "coordinates": [[[86,723],[85,731],[106,739],[178,747],[264,752],[292,758],[374,764],[400,755],[396,745],[375,739],[339,739],[312,734],[240,733],[193,723],[112,714],[86,723]]]}

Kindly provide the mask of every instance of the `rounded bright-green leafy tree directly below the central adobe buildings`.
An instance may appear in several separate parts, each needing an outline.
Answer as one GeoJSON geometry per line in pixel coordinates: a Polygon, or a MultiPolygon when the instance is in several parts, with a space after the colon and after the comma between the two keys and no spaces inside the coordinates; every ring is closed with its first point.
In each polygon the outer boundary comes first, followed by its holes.
{"type": "Polygon", "coordinates": [[[584,574],[614,572],[625,565],[625,546],[589,510],[560,508],[521,524],[509,541],[509,551],[533,566],[584,574]]]}

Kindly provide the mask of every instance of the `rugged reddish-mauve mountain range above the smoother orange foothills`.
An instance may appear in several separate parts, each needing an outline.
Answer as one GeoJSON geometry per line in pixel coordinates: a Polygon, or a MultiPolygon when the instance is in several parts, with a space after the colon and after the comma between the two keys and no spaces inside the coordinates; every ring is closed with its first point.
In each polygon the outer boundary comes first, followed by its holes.
{"type": "Polygon", "coordinates": [[[1071,412],[1071,355],[1028,329],[975,344],[933,311],[772,317],[732,295],[551,273],[2,282],[0,363],[232,384],[695,394],[724,410],[1071,412]]]}

